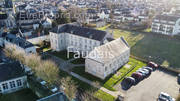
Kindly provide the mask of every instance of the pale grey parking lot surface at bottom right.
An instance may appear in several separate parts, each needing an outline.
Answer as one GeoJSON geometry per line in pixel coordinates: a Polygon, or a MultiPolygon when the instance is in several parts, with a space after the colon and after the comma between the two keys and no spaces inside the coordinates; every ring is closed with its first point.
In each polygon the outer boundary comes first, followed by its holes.
{"type": "Polygon", "coordinates": [[[129,90],[119,90],[124,94],[125,101],[156,101],[160,92],[168,93],[176,98],[179,94],[180,85],[177,77],[172,73],[156,70],[147,78],[132,86],[129,90]]]}

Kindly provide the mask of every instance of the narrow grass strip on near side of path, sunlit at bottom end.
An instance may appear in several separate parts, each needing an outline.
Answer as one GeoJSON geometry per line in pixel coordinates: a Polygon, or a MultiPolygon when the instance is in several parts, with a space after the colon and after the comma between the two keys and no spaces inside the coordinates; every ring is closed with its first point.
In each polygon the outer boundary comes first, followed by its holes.
{"type": "MultiPolygon", "coordinates": [[[[67,76],[70,76],[70,75],[67,74],[66,72],[60,71],[60,77],[61,78],[67,77],[67,76]]],[[[70,77],[72,77],[72,76],[70,76],[70,77]]],[[[102,101],[114,101],[114,99],[115,99],[112,95],[110,95],[110,94],[108,94],[102,90],[98,90],[97,88],[94,88],[93,86],[91,86],[85,82],[82,82],[75,77],[72,77],[72,79],[74,80],[74,82],[77,84],[77,86],[80,89],[84,90],[85,92],[89,92],[94,97],[96,97],[102,101]]]]}

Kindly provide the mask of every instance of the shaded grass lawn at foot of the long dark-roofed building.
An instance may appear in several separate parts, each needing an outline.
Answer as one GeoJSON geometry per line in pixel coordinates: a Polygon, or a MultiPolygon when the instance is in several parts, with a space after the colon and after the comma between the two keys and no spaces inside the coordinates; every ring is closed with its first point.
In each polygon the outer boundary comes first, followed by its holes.
{"type": "Polygon", "coordinates": [[[66,50],[63,50],[63,51],[60,51],[60,52],[48,52],[54,56],[57,56],[63,60],[69,60],[69,59],[72,59],[74,57],[74,53],[67,53],[66,50]]]}

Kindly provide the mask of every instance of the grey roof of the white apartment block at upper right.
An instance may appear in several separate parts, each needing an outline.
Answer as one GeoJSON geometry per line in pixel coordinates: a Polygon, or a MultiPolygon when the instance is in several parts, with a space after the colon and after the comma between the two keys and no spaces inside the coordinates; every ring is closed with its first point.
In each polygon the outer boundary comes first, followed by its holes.
{"type": "Polygon", "coordinates": [[[180,16],[175,16],[175,15],[157,15],[155,17],[155,19],[175,22],[178,19],[180,19],[180,16]]]}

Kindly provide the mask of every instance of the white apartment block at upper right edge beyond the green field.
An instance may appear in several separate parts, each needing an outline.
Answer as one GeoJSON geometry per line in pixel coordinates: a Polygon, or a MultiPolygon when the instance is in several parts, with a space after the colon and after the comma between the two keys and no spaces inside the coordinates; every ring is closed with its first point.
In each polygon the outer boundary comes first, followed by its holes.
{"type": "Polygon", "coordinates": [[[157,15],[152,22],[152,32],[177,35],[180,34],[180,16],[157,15]]]}

